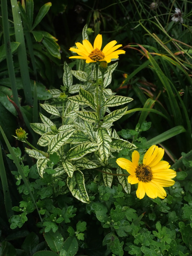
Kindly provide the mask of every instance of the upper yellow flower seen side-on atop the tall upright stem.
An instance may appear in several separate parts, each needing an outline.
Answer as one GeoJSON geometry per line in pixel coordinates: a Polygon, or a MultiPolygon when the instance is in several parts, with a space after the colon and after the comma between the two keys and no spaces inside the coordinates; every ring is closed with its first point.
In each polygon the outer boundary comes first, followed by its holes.
{"type": "Polygon", "coordinates": [[[97,61],[106,61],[111,62],[111,59],[117,59],[119,54],[124,54],[124,50],[117,50],[122,44],[117,44],[117,41],[111,41],[108,43],[103,50],[101,51],[102,46],[102,36],[98,34],[95,38],[94,44],[87,40],[83,40],[83,44],[76,43],[76,48],[70,48],[72,52],[76,52],[78,56],[71,56],[69,59],[83,59],[86,60],[86,63],[97,62],[97,61]],[[117,51],[116,51],[117,50],[117,51]]]}

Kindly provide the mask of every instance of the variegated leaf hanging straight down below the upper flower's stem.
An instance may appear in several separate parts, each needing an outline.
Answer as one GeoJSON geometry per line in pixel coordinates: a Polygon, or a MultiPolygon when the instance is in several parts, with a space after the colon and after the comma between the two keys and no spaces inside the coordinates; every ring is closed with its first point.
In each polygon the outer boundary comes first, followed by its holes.
{"type": "Polygon", "coordinates": [[[108,130],[105,128],[99,128],[97,130],[97,144],[99,148],[101,161],[106,162],[110,155],[110,144],[111,136],[108,133],[108,130]]]}

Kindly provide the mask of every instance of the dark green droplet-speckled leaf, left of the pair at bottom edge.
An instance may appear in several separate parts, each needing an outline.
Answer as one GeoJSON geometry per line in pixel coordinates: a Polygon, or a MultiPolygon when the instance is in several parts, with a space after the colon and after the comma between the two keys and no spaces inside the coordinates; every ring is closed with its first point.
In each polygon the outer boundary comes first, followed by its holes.
{"type": "Polygon", "coordinates": [[[53,252],[60,252],[64,243],[63,243],[63,237],[61,236],[59,231],[56,231],[53,233],[53,231],[50,230],[49,232],[44,233],[44,238],[49,248],[53,252]]]}

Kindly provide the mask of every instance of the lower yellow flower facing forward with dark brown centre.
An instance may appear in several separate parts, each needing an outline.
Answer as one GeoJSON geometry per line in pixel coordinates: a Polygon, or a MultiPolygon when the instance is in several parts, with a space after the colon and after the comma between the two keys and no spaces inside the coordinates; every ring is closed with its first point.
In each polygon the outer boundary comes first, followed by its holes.
{"type": "Polygon", "coordinates": [[[136,195],[142,199],[145,193],[150,198],[160,197],[162,199],[167,195],[163,187],[172,186],[175,181],[172,180],[177,174],[166,161],[161,161],[164,155],[164,149],[158,146],[151,146],[143,157],[143,163],[139,163],[139,152],[134,150],[132,153],[132,162],[125,158],[118,158],[117,164],[129,172],[128,182],[138,183],[136,195]]]}

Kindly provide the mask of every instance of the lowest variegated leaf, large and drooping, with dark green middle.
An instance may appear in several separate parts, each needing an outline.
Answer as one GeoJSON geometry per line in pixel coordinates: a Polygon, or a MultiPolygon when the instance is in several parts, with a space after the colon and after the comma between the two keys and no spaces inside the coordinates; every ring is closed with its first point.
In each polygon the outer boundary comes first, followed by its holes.
{"type": "Polygon", "coordinates": [[[89,196],[85,188],[84,175],[81,171],[76,171],[73,177],[67,178],[67,185],[71,194],[83,203],[90,203],[89,196]]]}

